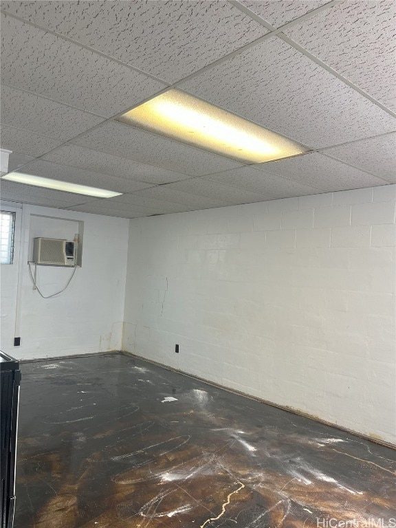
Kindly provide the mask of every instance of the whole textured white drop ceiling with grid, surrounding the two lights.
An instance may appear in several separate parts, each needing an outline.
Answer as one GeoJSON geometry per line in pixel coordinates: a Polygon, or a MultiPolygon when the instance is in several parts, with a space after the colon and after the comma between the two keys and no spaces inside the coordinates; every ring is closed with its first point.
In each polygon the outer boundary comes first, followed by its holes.
{"type": "Polygon", "coordinates": [[[396,3],[1,1],[1,197],[144,217],[395,183],[396,3]],[[170,87],[309,153],[246,165],[115,121],[170,87]]]}

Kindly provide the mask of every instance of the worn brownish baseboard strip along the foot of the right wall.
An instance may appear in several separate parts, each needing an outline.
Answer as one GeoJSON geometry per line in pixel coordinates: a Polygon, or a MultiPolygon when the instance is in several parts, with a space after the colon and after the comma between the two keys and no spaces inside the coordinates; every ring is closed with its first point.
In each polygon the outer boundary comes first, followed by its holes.
{"type": "Polygon", "coordinates": [[[287,406],[283,406],[283,405],[279,405],[279,404],[274,404],[273,401],[268,401],[267,399],[258,398],[256,396],[252,396],[252,395],[247,394],[247,393],[242,393],[241,391],[236,391],[233,388],[225,387],[225,386],[220,385],[218,383],[210,382],[208,380],[205,380],[205,378],[203,378],[203,377],[195,376],[193,374],[189,374],[188,372],[180,371],[179,369],[173,369],[173,367],[171,367],[171,366],[164,365],[163,363],[159,363],[157,361],[148,360],[147,358],[142,358],[141,355],[137,355],[137,354],[134,354],[132,352],[127,352],[127,351],[122,350],[122,351],[120,351],[120,353],[122,353],[124,355],[130,355],[132,358],[137,358],[138,360],[146,361],[148,363],[152,363],[152,364],[157,365],[157,366],[162,366],[163,369],[166,369],[168,371],[173,371],[173,372],[176,372],[178,374],[183,374],[185,376],[191,377],[193,380],[198,380],[199,382],[206,383],[206,384],[211,385],[211,386],[216,387],[216,388],[221,388],[221,389],[223,389],[223,391],[228,391],[228,393],[233,393],[233,394],[237,394],[239,396],[243,396],[245,398],[254,399],[255,401],[260,401],[262,404],[270,405],[271,407],[276,407],[278,409],[285,410],[287,412],[290,412],[292,415],[303,416],[303,417],[308,418],[308,419],[310,419],[312,421],[316,421],[318,423],[322,423],[325,426],[333,427],[333,428],[338,429],[340,431],[344,431],[344,432],[347,432],[349,434],[353,434],[354,437],[358,437],[358,438],[361,438],[363,440],[367,440],[369,442],[373,442],[373,443],[377,443],[379,445],[383,445],[385,448],[391,448],[393,450],[396,450],[396,445],[394,445],[393,443],[386,442],[386,441],[384,441],[384,440],[382,440],[380,438],[370,437],[367,434],[363,434],[361,432],[354,431],[352,429],[348,429],[347,427],[339,426],[337,423],[332,423],[331,421],[323,420],[323,419],[318,418],[316,416],[309,415],[308,412],[303,412],[301,410],[297,410],[297,409],[294,409],[292,407],[287,407],[287,406]]]}

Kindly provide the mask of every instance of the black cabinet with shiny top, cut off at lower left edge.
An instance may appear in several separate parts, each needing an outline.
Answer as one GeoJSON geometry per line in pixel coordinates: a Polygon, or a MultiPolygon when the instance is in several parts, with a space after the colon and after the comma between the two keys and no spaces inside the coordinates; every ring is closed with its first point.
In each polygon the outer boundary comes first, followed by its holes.
{"type": "Polygon", "coordinates": [[[19,362],[0,352],[0,481],[1,528],[12,528],[15,506],[15,460],[17,455],[19,362]]]}

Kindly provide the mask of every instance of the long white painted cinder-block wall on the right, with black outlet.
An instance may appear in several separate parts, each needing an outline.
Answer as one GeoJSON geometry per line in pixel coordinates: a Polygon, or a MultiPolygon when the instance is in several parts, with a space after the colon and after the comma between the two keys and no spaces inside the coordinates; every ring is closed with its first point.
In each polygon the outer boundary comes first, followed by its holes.
{"type": "Polygon", "coordinates": [[[124,349],[396,443],[395,187],[131,220],[124,349]]]}

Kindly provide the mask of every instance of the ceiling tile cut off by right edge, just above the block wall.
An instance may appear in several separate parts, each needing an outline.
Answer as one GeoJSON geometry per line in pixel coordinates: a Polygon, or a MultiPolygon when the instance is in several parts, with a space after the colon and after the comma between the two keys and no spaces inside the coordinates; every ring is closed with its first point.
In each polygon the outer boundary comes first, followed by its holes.
{"type": "Polygon", "coordinates": [[[375,176],[386,177],[396,173],[396,134],[333,146],[326,148],[323,153],[375,176]]]}

